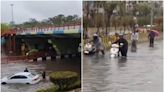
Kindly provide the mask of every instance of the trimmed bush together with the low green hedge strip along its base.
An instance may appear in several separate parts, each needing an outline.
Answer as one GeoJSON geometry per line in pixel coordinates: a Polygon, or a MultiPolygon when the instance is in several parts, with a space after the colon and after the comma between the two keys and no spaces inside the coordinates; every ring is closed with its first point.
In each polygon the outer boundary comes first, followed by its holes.
{"type": "Polygon", "coordinates": [[[54,86],[38,90],[37,92],[63,92],[81,87],[81,80],[76,72],[53,72],[49,76],[50,81],[54,83],[54,86]]]}

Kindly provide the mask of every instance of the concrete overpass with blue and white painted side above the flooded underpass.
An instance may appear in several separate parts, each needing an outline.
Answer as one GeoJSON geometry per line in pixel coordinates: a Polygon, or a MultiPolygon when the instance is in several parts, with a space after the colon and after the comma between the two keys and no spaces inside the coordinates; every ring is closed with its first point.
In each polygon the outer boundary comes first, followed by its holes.
{"type": "Polygon", "coordinates": [[[57,54],[78,53],[81,31],[81,25],[19,29],[7,37],[7,48],[20,55],[23,48],[43,50],[50,44],[57,54]]]}

